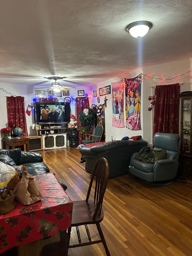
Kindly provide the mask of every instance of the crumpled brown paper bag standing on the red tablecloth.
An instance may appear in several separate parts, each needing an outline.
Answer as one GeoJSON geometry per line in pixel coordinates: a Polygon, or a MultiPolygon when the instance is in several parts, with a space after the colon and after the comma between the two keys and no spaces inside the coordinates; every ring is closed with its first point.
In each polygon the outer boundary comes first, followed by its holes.
{"type": "Polygon", "coordinates": [[[22,204],[33,204],[43,199],[37,180],[26,171],[26,166],[22,166],[22,178],[13,192],[15,199],[22,204]]]}

